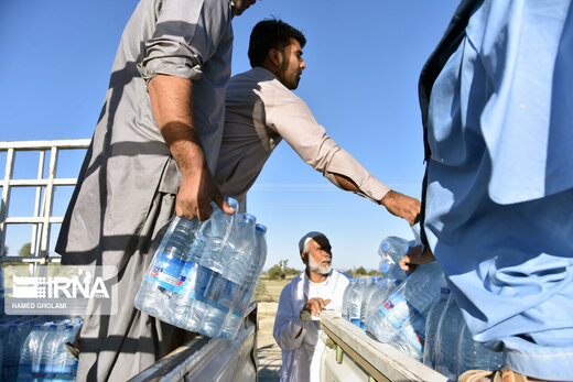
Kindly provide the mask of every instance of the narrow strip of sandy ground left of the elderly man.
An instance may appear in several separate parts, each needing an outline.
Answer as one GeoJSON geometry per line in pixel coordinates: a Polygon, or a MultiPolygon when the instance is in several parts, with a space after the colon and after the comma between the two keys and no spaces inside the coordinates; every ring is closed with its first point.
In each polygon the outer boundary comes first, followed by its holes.
{"type": "Polygon", "coordinates": [[[272,327],[279,306],[279,296],[290,280],[261,280],[261,282],[264,284],[264,292],[257,296],[259,308],[259,381],[275,382],[280,380],[281,349],[272,337],[272,327]]]}

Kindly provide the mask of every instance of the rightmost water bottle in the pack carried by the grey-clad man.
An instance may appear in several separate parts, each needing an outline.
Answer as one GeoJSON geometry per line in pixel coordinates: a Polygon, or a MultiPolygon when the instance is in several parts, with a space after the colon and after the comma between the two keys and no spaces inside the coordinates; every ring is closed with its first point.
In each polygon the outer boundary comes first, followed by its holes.
{"type": "MultiPolygon", "coordinates": [[[[224,243],[221,262],[225,263],[220,276],[214,280],[207,291],[205,303],[208,305],[198,331],[208,337],[217,337],[223,323],[229,314],[235,299],[240,296],[241,284],[247,279],[249,263],[252,261],[256,218],[242,215],[235,234],[224,243]]],[[[207,255],[207,254],[206,254],[207,255]]]]}

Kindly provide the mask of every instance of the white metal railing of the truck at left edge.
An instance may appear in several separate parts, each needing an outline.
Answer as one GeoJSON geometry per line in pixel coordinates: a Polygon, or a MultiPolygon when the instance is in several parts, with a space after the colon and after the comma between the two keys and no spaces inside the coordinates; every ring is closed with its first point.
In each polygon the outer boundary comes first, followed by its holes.
{"type": "Polygon", "coordinates": [[[2,201],[0,206],[0,261],[7,257],[6,232],[8,225],[33,225],[30,257],[31,261],[47,261],[50,249],[50,232],[53,223],[62,223],[63,217],[52,216],[55,186],[74,186],[77,178],[57,178],[57,157],[62,150],[85,150],[89,139],[51,140],[51,141],[14,141],[0,142],[0,152],[7,152],[4,178],[0,181],[2,201]],[[15,153],[20,151],[37,151],[37,176],[32,179],[13,179],[15,153]],[[46,152],[50,151],[47,177],[44,177],[46,152]],[[35,187],[34,216],[8,217],[10,208],[10,192],[12,187],[35,187]]]}

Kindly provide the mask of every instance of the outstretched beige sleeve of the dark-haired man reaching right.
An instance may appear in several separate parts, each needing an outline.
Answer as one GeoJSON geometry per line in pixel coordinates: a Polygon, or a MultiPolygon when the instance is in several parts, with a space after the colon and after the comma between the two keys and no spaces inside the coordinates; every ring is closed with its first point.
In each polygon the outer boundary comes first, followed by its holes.
{"type": "Polygon", "coordinates": [[[340,186],[335,174],[352,179],[359,188],[357,194],[372,201],[381,200],[390,190],[326,134],[306,103],[292,91],[279,91],[272,106],[266,110],[269,129],[281,135],[304,162],[337,187],[340,186]]]}

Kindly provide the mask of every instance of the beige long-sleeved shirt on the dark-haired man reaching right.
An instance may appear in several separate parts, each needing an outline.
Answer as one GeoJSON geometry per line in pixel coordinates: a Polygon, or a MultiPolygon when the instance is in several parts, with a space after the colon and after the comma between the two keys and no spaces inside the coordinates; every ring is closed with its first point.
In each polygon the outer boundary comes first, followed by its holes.
{"type": "Polygon", "coordinates": [[[301,98],[271,72],[255,67],[234,76],[227,87],[215,172],[223,195],[241,200],[282,139],[337,187],[334,174],[350,178],[357,194],[374,201],[390,190],[326,134],[301,98]]]}

